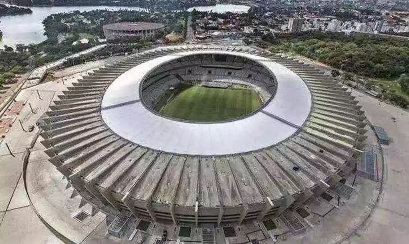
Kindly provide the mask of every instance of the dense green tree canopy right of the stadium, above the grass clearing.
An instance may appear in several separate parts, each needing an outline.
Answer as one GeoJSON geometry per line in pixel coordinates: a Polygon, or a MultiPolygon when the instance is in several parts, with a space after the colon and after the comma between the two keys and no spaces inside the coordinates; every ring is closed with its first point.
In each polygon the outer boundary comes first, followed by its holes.
{"type": "Polygon", "coordinates": [[[373,78],[409,72],[409,42],[378,35],[333,32],[263,35],[274,51],[295,52],[344,71],[373,78]]]}

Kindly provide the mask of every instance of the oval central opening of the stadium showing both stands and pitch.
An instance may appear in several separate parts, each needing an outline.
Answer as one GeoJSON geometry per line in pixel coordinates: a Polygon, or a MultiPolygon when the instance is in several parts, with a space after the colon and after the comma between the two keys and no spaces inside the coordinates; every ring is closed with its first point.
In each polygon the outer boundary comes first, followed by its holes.
{"type": "Polygon", "coordinates": [[[274,96],[277,82],[261,62],[242,55],[195,53],[151,69],[140,82],[151,112],[193,123],[228,122],[250,116],[274,96]]]}

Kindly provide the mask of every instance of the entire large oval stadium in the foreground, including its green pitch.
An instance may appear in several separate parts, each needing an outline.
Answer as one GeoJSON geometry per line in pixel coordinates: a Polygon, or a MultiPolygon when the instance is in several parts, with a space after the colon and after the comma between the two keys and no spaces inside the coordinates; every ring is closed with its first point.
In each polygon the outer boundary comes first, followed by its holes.
{"type": "Polygon", "coordinates": [[[342,84],[250,47],[158,47],[68,88],[42,119],[45,152],[117,226],[281,218],[302,231],[300,209],[343,189],[365,139],[342,84]]]}

